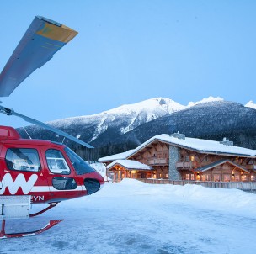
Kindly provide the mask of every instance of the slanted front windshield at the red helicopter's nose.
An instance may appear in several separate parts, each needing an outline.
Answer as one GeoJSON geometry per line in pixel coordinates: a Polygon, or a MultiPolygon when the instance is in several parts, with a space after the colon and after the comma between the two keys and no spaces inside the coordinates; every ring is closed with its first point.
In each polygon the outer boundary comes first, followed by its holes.
{"type": "Polygon", "coordinates": [[[83,161],[81,157],[77,156],[77,154],[74,151],[72,151],[68,147],[65,147],[64,150],[66,151],[68,158],[72,162],[72,165],[75,171],[77,172],[77,175],[83,175],[90,172],[95,172],[93,167],[89,166],[88,163],[83,161]]]}

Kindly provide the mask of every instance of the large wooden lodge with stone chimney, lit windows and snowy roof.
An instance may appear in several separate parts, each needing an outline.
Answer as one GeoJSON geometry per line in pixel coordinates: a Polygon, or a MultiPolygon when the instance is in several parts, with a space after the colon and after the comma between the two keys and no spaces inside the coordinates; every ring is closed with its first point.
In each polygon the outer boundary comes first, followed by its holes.
{"type": "Polygon", "coordinates": [[[176,133],[157,135],[134,150],[99,159],[114,181],[124,177],[189,182],[250,182],[256,188],[256,151],[176,133]],[[131,161],[133,161],[131,163],[131,161]]]}

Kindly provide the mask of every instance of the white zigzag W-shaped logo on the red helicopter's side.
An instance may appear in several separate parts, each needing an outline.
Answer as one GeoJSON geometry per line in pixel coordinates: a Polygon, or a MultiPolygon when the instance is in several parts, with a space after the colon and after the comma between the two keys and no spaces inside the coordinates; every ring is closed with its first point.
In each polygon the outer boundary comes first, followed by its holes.
{"type": "MultiPolygon", "coordinates": [[[[31,188],[33,188],[38,176],[36,174],[31,175],[29,180],[26,181],[23,174],[19,174],[18,177],[13,181],[11,174],[5,174],[2,180],[3,189],[1,193],[4,193],[5,189],[8,187],[9,192],[14,195],[17,193],[18,189],[21,188],[24,194],[28,194],[31,188]]],[[[1,181],[0,181],[1,186],[1,181]]]]}

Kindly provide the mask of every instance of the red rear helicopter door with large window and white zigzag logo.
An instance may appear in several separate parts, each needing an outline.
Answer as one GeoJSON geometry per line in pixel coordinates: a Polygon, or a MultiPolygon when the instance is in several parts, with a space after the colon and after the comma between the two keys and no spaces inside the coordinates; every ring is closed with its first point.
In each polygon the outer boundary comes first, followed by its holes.
{"type": "MultiPolygon", "coordinates": [[[[45,188],[48,188],[43,174],[40,153],[34,145],[6,145],[1,157],[4,158],[2,188],[5,194],[32,195],[33,202],[44,203],[45,188]],[[46,183],[46,184],[45,184],[46,183]]],[[[49,193],[49,188],[48,188],[49,193]]]]}

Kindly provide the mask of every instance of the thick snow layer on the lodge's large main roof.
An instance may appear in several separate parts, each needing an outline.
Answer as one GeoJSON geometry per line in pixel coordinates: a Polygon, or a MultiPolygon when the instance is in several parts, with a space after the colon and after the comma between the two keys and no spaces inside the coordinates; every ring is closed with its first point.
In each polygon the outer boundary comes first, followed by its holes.
{"type": "Polygon", "coordinates": [[[136,149],[125,151],[112,156],[106,156],[100,158],[99,161],[115,161],[119,159],[127,159],[132,155],[136,154],[137,151],[140,151],[142,148],[152,143],[154,140],[163,141],[170,145],[184,147],[204,153],[228,154],[233,156],[256,156],[256,150],[243,148],[239,146],[227,146],[221,144],[219,141],[201,140],[188,137],[185,137],[185,139],[183,140],[168,134],[162,134],[153,136],[151,139],[145,141],[144,143],[141,144],[141,146],[138,146],[136,149]]]}

